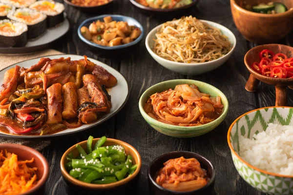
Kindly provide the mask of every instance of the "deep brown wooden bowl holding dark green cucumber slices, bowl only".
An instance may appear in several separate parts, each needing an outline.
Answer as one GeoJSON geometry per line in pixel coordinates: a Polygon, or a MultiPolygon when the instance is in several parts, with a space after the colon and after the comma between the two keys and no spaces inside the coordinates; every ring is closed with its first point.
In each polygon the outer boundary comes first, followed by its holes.
{"type": "Polygon", "coordinates": [[[276,43],[284,39],[293,26],[293,0],[230,0],[234,23],[243,37],[256,43],[276,43]],[[260,14],[248,11],[241,6],[282,2],[288,11],[280,14],[260,14]]]}

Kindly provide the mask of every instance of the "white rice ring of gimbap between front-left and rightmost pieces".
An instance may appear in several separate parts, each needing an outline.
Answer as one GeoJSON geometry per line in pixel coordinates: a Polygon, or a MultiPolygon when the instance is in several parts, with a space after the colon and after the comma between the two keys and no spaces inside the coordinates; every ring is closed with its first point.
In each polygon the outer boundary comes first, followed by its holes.
{"type": "Polygon", "coordinates": [[[37,12],[35,10],[32,10],[32,9],[29,9],[29,8],[22,8],[22,9],[17,9],[14,13],[9,13],[8,16],[7,16],[9,19],[11,20],[15,20],[15,21],[19,21],[19,22],[23,22],[27,25],[34,25],[34,24],[37,24],[39,22],[41,22],[42,20],[45,20],[47,18],[46,15],[40,13],[40,12],[37,12]],[[27,22],[26,20],[23,20],[21,18],[18,18],[16,17],[19,13],[28,13],[30,14],[31,16],[34,16],[34,15],[37,15],[37,14],[40,14],[40,17],[31,21],[31,22],[27,22]]]}

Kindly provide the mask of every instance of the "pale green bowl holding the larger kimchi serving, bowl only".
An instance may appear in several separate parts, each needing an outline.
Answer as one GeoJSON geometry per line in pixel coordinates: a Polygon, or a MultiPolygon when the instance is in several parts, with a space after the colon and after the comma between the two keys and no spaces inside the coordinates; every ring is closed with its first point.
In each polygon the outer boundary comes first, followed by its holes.
{"type": "Polygon", "coordinates": [[[142,114],[142,116],[145,118],[146,122],[155,130],[158,132],[165,134],[170,137],[197,137],[204,135],[211,130],[215,129],[221,122],[225,119],[227,116],[229,109],[229,103],[226,96],[217,88],[214,86],[201,82],[198,80],[190,80],[190,79],[175,79],[175,80],[167,80],[164,82],[160,82],[158,84],[155,84],[148,88],[143,95],[141,96],[139,100],[139,110],[142,114]],[[167,89],[174,89],[176,85],[180,84],[194,84],[198,87],[199,91],[201,93],[209,94],[211,97],[217,97],[220,96],[222,100],[222,104],[224,105],[222,114],[217,119],[199,126],[177,126],[177,125],[170,125],[166,124],[164,122],[160,122],[152,117],[150,117],[146,111],[144,110],[144,106],[146,104],[147,99],[157,93],[157,92],[163,92],[167,89]]]}

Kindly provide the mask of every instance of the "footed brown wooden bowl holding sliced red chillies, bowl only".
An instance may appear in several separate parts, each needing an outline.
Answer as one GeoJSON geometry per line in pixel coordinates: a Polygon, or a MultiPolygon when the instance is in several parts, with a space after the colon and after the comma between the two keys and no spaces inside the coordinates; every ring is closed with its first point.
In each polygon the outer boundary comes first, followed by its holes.
{"type": "Polygon", "coordinates": [[[266,45],[259,45],[257,47],[253,47],[251,50],[249,50],[245,57],[244,57],[244,63],[251,73],[246,85],[245,89],[249,92],[256,91],[258,81],[262,81],[264,83],[274,85],[276,89],[276,101],[275,106],[286,106],[287,105],[287,91],[286,88],[289,86],[292,88],[293,85],[293,78],[271,78],[264,75],[261,75],[257,72],[255,72],[251,68],[251,64],[256,61],[259,62],[259,53],[264,50],[269,49],[273,53],[284,53],[288,56],[288,58],[293,58],[293,47],[287,46],[287,45],[281,45],[281,44],[266,44],[266,45]]]}

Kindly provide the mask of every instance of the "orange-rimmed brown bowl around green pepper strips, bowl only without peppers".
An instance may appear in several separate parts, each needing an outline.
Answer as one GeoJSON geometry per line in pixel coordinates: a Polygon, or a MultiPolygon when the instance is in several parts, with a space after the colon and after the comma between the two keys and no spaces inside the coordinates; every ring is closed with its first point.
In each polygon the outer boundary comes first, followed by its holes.
{"type": "MultiPolygon", "coordinates": [[[[92,144],[95,145],[99,139],[100,138],[94,138],[92,144]]],[[[79,142],[77,144],[82,146],[82,148],[84,148],[84,150],[86,151],[86,143],[87,143],[87,140],[79,142]]],[[[137,152],[137,150],[133,146],[129,145],[128,143],[126,143],[124,141],[107,138],[107,140],[103,146],[110,146],[110,145],[120,145],[125,148],[126,154],[131,155],[133,157],[133,161],[134,161],[133,164],[138,164],[135,172],[131,176],[128,176],[120,181],[115,182],[115,183],[109,183],[109,184],[85,183],[85,182],[80,181],[76,178],[73,178],[66,171],[65,164],[68,162],[68,160],[66,159],[66,156],[69,153],[72,152],[74,158],[79,156],[79,152],[76,149],[76,144],[74,144],[63,154],[61,161],[60,161],[60,167],[61,167],[61,173],[62,173],[63,179],[64,179],[65,183],[67,184],[67,186],[69,186],[69,188],[73,190],[73,192],[85,192],[86,191],[88,194],[105,192],[105,194],[108,194],[108,193],[115,193],[120,190],[124,191],[125,189],[130,189],[133,187],[133,182],[135,180],[137,180],[135,178],[138,176],[138,174],[141,170],[141,166],[142,166],[141,156],[139,155],[139,153],[137,152]]]]}

